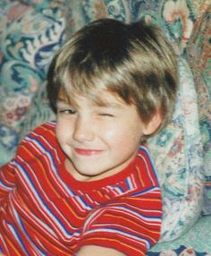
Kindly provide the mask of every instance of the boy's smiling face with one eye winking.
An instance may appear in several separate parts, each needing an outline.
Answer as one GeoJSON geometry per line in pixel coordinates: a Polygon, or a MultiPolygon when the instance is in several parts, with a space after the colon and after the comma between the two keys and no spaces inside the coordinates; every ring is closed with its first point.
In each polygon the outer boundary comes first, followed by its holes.
{"type": "Polygon", "coordinates": [[[76,97],[77,107],[57,102],[57,140],[67,156],[67,170],[80,181],[120,172],[136,156],[140,137],[148,130],[134,105],[110,92],[101,98],[105,107],[81,96],[76,97]]]}

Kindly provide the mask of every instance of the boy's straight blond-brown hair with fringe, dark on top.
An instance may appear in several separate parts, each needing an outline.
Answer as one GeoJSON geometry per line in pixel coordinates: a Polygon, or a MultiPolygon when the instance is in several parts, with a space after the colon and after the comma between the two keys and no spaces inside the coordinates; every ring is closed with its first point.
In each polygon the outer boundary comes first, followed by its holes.
{"type": "Polygon", "coordinates": [[[78,30],[58,51],[47,75],[55,106],[61,93],[102,104],[104,90],[135,104],[147,124],[159,111],[162,129],[172,117],[177,90],[177,58],[157,27],[141,21],[101,19],[78,30]]]}

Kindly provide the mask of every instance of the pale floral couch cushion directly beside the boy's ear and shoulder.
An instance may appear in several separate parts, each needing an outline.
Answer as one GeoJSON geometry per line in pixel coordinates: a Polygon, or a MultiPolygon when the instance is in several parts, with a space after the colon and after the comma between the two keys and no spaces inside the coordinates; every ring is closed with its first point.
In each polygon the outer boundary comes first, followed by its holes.
{"type": "Polygon", "coordinates": [[[187,61],[179,63],[180,90],[173,122],[148,141],[163,190],[164,218],[160,242],[187,232],[200,217],[203,151],[198,101],[187,61]]]}

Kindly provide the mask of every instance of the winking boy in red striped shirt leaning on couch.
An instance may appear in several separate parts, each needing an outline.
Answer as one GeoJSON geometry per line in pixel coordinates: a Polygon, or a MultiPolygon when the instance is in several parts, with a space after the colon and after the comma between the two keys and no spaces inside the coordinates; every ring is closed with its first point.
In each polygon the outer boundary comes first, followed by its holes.
{"type": "Polygon", "coordinates": [[[145,255],[162,201],[148,136],[171,119],[176,58],[157,28],[103,19],[77,31],[49,68],[56,122],[1,168],[4,255],[145,255]]]}

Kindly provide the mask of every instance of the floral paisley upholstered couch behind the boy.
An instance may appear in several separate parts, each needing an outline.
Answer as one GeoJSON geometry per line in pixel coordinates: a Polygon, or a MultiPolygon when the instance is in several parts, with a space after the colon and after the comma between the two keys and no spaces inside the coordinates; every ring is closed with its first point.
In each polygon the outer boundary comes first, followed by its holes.
{"type": "Polygon", "coordinates": [[[164,219],[147,255],[211,255],[210,0],[2,0],[0,165],[28,132],[55,119],[46,97],[55,52],[75,30],[103,17],[156,24],[179,57],[172,123],[148,141],[164,219]]]}

